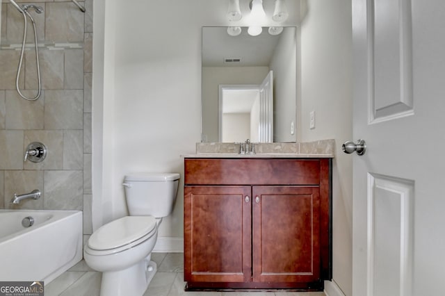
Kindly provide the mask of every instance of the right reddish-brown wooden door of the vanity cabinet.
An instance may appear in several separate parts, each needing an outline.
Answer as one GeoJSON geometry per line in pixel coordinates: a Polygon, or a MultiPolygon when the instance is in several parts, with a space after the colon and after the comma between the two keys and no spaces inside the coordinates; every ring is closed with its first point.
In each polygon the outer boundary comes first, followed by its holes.
{"type": "Polygon", "coordinates": [[[252,198],[253,281],[319,281],[318,186],[254,186],[252,198]]]}

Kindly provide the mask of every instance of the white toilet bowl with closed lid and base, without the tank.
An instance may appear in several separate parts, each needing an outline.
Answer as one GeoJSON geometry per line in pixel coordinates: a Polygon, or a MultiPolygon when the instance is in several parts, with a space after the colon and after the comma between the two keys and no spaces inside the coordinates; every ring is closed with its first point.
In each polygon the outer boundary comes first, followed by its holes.
{"type": "Polygon", "coordinates": [[[157,269],[149,260],[157,236],[152,216],[122,217],[92,234],[83,257],[102,272],[100,295],[143,295],[157,269]]]}

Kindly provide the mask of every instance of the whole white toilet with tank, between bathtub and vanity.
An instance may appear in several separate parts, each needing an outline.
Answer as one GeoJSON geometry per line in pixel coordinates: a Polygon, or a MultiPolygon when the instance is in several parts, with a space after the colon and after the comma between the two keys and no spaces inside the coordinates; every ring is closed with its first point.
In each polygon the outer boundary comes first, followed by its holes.
{"type": "Polygon", "coordinates": [[[178,183],[177,173],[125,176],[129,216],[97,229],[83,249],[88,266],[102,272],[101,296],[145,293],[157,269],[150,258],[158,227],[172,213],[178,183]]]}

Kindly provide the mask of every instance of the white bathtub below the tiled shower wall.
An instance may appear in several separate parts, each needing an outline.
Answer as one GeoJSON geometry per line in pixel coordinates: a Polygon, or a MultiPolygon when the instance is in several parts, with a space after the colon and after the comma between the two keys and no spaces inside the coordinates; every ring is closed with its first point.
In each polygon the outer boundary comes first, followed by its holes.
{"type": "Polygon", "coordinates": [[[81,211],[0,210],[0,281],[49,283],[81,261],[82,231],[81,211]]]}

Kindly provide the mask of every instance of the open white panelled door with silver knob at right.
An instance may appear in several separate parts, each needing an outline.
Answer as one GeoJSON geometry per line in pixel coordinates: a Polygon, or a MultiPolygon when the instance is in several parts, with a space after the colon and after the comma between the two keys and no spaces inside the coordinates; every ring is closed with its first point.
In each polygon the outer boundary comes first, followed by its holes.
{"type": "Polygon", "coordinates": [[[353,296],[445,295],[445,1],[353,0],[353,296]]]}

